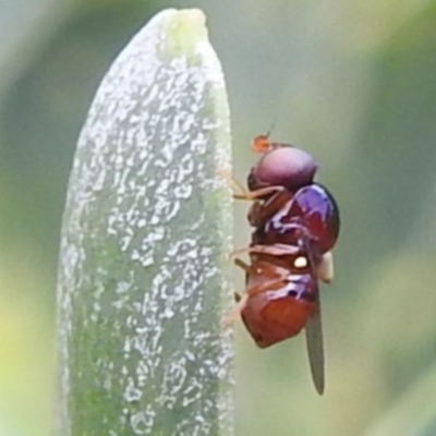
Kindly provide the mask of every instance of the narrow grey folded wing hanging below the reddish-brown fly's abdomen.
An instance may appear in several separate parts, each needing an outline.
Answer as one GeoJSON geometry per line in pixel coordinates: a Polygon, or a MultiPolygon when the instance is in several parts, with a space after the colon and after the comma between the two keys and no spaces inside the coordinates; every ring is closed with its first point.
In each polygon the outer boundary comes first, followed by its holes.
{"type": "Polygon", "coordinates": [[[324,393],[324,341],[323,324],[320,317],[319,298],[316,302],[314,314],[308,318],[305,327],[308,364],[312,379],[319,395],[324,393]]]}

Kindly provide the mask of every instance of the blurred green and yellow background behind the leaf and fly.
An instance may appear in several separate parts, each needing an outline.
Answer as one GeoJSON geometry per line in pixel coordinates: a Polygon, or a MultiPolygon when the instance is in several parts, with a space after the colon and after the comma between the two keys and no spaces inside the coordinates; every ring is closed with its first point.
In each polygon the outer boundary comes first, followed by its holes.
{"type": "MultiPolygon", "coordinates": [[[[234,174],[272,138],[341,208],[323,289],[327,391],[303,337],[237,327],[238,435],[436,435],[436,1],[0,1],[0,435],[51,433],[55,287],[75,142],[105,71],[158,10],[199,7],[223,63],[234,174]]],[[[246,245],[235,205],[235,246],[246,245]]],[[[243,287],[235,272],[235,286],[243,287]]]]}

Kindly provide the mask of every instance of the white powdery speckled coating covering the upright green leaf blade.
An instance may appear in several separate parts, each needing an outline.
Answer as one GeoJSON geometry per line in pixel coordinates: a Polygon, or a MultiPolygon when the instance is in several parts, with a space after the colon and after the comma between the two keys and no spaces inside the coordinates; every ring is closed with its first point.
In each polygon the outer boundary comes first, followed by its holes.
{"type": "MultiPolygon", "coordinates": [[[[101,332],[101,323],[110,324],[119,349],[93,362],[89,389],[122,397],[119,419],[100,419],[116,421],[109,434],[159,435],[159,416],[174,409],[180,421],[173,435],[233,434],[229,389],[218,405],[207,393],[215,383],[232,383],[231,334],[218,331],[226,311],[220,300],[231,286],[217,267],[231,250],[230,195],[222,199],[225,182],[216,177],[218,168],[230,168],[229,144],[216,145],[229,137],[228,108],[220,64],[206,39],[195,46],[195,62],[161,59],[161,27],[177,14],[158,14],[119,56],[78,141],[58,291],[66,436],[70,371],[77,372],[69,364],[80,353],[70,344],[83,331],[101,332]],[[207,208],[214,193],[221,195],[215,215],[207,208]],[[125,265],[110,264],[112,251],[125,265]],[[95,267],[95,252],[108,264],[95,267]],[[80,317],[84,302],[87,315],[80,317]],[[168,329],[183,347],[167,344],[168,329]]],[[[82,370],[88,368],[80,368],[78,380],[82,370]]]]}

